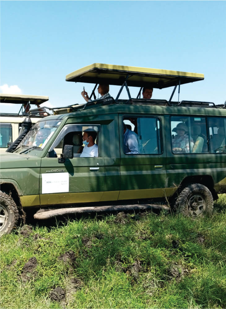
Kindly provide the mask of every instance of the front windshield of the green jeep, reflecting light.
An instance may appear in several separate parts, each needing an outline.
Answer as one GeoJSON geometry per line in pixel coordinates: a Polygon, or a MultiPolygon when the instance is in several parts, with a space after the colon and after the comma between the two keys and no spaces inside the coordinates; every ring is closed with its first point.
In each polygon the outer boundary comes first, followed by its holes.
{"type": "Polygon", "coordinates": [[[25,135],[14,152],[21,153],[21,148],[35,148],[42,150],[60,123],[61,121],[59,120],[37,122],[25,135]]]}

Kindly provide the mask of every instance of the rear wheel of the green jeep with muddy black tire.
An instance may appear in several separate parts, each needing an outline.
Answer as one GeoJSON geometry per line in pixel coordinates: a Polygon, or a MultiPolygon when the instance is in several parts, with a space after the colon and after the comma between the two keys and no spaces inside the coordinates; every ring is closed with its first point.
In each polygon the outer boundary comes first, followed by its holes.
{"type": "Polygon", "coordinates": [[[200,218],[213,212],[213,196],[203,184],[190,184],[179,194],[175,209],[186,217],[200,218]]]}

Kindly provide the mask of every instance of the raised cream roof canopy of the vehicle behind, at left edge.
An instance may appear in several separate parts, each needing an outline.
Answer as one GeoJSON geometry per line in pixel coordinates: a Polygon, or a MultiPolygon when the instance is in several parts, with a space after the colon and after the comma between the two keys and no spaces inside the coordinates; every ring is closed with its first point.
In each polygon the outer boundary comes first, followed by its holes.
{"type": "Polygon", "coordinates": [[[14,103],[14,104],[42,104],[48,101],[49,97],[39,95],[10,95],[0,94],[1,103],[14,103]]]}

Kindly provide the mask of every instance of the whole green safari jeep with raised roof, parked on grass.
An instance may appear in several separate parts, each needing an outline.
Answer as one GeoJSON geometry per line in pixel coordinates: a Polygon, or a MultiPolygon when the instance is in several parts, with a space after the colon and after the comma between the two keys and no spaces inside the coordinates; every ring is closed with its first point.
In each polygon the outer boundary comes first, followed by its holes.
{"type": "Polygon", "coordinates": [[[94,83],[92,94],[85,104],[53,108],[1,155],[1,234],[28,208],[48,208],[34,215],[45,219],[158,201],[193,218],[211,214],[217,193],[226,192],[226,104],[172,101],[177,86],[202,79],[96,63],[67,75],[94,83]],[[121,86],[116,98],[95,99],[98,83],[121,86]],[[143,87],[172,86],[169,100],[141,98],[143,87]],[[119,99],[123,87],[128,99],[119,99]],[[136,98],[129,87],[139,87],[136,98]],[[95,151],[85,156],[91,138],[95,151]]]}

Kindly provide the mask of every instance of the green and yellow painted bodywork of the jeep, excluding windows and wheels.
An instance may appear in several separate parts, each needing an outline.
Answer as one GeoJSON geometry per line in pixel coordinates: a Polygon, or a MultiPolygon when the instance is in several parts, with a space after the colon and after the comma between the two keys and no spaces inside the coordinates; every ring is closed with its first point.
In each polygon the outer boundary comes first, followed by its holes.
{"type": "Polygon", "coordinates": [[[61,124],[42,151],[1,155],[1,184],[15,188],[23,207],[170,198],[183,182],[194,182],[194,178],[213,194],[226,192],[225,153],[175,155],[167,142],[171,139],[170,115],[225,117],[225,110],[113,104],[95,108],[95,114],[91,111],[45,117],[46,121],[59,119],[61,124]],[[124,154],[122,119],[139,115],[161,120],[161,155],[124,154]],[[71,124],[100,125],[99,157],[73,158],[64,163],[58,163],[58,158],[48,158],[48,150],[58,133],[71,124]],[[97,166],[98,171],[90,171],[90,167],[97,166]],[[69,173],[69,192],[42,194],[42,174],[61,170],[69,173]]]}

